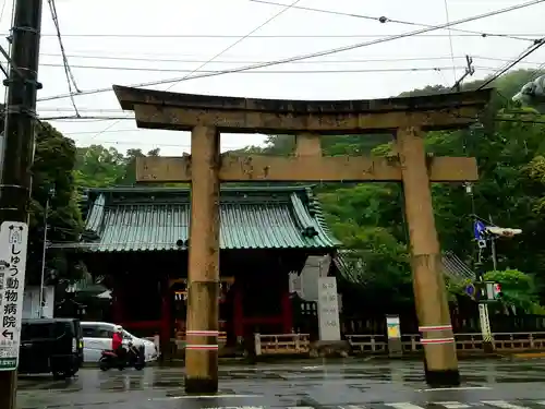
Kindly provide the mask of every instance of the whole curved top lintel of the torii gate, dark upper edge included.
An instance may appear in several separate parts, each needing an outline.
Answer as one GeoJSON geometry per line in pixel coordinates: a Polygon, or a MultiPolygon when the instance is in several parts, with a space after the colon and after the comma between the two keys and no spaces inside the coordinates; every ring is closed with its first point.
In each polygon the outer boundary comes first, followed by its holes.
{"type": "Polygon", "coordinates": [[[376,133],[400,125],[423,130],[475,122],[492,88],[362,100],[286,100],[180,94],[113,85],[122,109],[140,128],[189,131],[213,125],[237,133],[376,133]]]}

